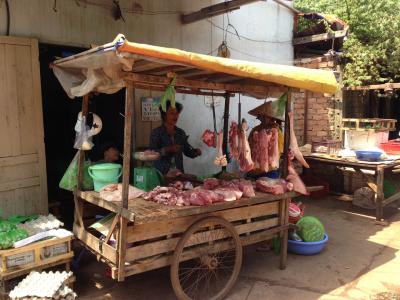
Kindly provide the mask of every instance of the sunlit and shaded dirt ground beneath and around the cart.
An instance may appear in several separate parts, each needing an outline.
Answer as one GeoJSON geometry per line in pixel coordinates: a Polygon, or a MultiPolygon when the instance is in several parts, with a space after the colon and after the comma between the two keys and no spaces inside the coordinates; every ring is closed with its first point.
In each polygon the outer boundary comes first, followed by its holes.
{"type": "MultiPolygon", "coordinates": [[[[321,219],[329,235],[315,256],[289,254],[286,270],[272,251],[245,248],[240,277],[227,299],[400,299],[400,211],[385,209],[388,226],[373,211],[327,197],[304,200],[306,214],[321,219]]],[[[175,299],[164,268],[116,283],[105,266],[85,255],[76,271],[80,299],[175,299]]]]}

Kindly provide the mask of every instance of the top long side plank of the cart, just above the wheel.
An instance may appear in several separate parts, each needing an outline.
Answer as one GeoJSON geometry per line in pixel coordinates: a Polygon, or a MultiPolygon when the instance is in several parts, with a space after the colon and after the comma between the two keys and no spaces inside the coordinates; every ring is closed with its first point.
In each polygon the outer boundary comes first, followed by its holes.
{"type": "Polygon", "coordinates": [[[181,233],[186,230],[195,221],[205,216],[219,216],[230,222],[256,218],[266,215],[278,214],[278,202],[262,203],[253,206],[245,206],[234,209],[227,209],[213,213],[197,214],[195,216],[186,216],[174,218],[165,221],[145,223],[142,225],[135,224],[128,227],[127,242],[137,242],[146,239],[152,239],[169,234],[181,233]]]}

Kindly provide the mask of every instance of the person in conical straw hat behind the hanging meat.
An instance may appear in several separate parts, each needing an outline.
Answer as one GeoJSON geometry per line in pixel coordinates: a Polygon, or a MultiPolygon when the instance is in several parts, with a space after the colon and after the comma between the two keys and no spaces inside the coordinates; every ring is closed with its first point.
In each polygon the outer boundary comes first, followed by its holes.
{"type": "Polygon", "coordinates": [[[257,143],[256,136],[257,133],[260,133],[263,129],[267,131],[275,130],[277,131],[278,137],[278,162],[271,163],[266,168],[261,168],[260,166],[256,166],[253,170],[247,173],[248,178],[257,179],[259,177],[269,177],[269,178],[279,178],[279,158],[283,153],[283,144],[284,137],[282,132],[282,122],[284,121],[285,114],[284,109],[279,109],[280,101],[270,101],[266,102],[252,110],[249,111],[249,114],[257,117],[260,120],[260,124],[254,127],[249,134],[249,145],[252,154],[256,153],[257,143]]]}

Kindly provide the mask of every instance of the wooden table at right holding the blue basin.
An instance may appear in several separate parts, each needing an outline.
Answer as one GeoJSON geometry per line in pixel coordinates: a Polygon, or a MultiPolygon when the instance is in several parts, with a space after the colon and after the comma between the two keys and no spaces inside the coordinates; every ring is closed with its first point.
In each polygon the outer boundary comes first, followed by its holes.
{"type": "Polygon", "coordinates": [[[357,173],[361,174],[366,179],[368,186],[375,192],[376,221],[378,222],[383,221],[383,208],[389,203],[400,199],[400,192],[389,198],[385,198],[383,193],[385,171],[400,169],[400,160],[372,163],[358,161],[355,158],[328,158],[314,155],[305,156],[305,159],[308,162],[353,168],[357,173]],[[362,170],[372,170],[374,175],[365,174],[362,170]]]}

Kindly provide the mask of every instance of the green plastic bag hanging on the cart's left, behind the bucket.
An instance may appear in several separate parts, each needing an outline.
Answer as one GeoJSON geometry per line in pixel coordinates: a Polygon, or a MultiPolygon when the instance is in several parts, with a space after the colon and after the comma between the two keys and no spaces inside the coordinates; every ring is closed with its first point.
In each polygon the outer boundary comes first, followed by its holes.
{"type": "MultiPolygon", "coordinates": [[[[67,190],[74,191],[78,185],[78,160],[79,152],[77,152],[69,164],[64,176],[61,178],[59,187],[67,190]]],[[[83,182],[82,189],[89,191],[93,190],[93,179],[89,175],[90,160],[85,160],[83,162],[83,182]]]]}

